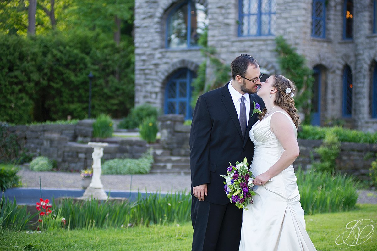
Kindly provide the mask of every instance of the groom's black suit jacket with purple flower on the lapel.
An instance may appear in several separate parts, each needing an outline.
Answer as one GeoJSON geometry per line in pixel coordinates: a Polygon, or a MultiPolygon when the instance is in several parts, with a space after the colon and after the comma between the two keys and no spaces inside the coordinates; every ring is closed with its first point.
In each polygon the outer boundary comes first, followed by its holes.
{"type": "Polygon", "coordinates": [[[190,131],[191,193],[193,186],[208,184],[208,196],[204,200],[219,205],[229,202],[224,191],[229,162],[234,165],[245,157],[249,165],[254,155],[250,140],[251,126],[259,114],[253,112],[253,101],[265,107],[263,100],[250,94],[250,115],[245,139],[242,139],[236,108],[227,83],[224,87],[201,95],[196,103],[190,131]]]}

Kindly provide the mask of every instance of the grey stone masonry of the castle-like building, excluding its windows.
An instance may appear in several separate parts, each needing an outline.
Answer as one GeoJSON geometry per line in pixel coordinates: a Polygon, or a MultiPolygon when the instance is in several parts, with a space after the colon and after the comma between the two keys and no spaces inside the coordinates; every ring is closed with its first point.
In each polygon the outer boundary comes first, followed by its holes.
{"type": "MultiPolygon", "coordinates": [[[[135,105],[164,105],[164,91],[171,74],[179,68],[196,72],[206,60],[199,49],[165,48],[166,17],[180,0],[135,1],[135,105]]],[[[373,1],[354,1],[353,40],[343,39],[344,1],[326,1],[326,38],[311,36],[313,1],[276,0],[276,34],[238,37],[238,0],[199,0],[208,11],[208,45],[230,65],[239,54],[253,55],[262,73],[281,73],[274,39],[282,35],[307,59],[307,66],[322,69],[321,123],[346,120],[346,125],[363,131],[377,131],[371,118],[371,67],[377,61],[377,34],[372,33],[373,1]],[[343,69],[353,74],[353,111],[342,115],[343,69]]],[[[207,68],[207,80],[213,74],[207,68]]],[[[229,76],[229,79],[231,76],[229,76]]],[[[293,79],[294,81],[294,79],[293,79]]],[[[225,83],[224,83],[225,84],[225,83]]]]}

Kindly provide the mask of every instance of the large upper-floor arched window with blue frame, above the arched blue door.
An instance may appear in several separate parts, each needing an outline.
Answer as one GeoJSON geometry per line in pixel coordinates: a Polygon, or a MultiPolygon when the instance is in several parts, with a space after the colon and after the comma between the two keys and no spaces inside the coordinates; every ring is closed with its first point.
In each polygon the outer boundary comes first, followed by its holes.
{"type": "Polygon", "coordinates": [[[199,37],[208,25],[207,10],[200,3],[188,0],[174,8],[166,25],[166,48],[198,46],[199,37]]]}

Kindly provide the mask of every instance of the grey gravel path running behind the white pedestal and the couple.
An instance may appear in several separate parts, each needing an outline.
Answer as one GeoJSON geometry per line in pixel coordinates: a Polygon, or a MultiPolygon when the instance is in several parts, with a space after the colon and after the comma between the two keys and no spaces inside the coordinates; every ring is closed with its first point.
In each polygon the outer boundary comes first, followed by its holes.
{"type": "MultiPolygon", "coordinates": [[[[43,188],[80,188],[80,173],[32,172],[23,168],[18,174],[24,187],[39,187],[39,176],[43,188]]],[[[178,174],[133,174],[101,175],[104,189],[141,192],[190,191],[191,176],[178,174]]],[[[377,204],[377,191],[359,190],[357,203],[377,204]]]]}

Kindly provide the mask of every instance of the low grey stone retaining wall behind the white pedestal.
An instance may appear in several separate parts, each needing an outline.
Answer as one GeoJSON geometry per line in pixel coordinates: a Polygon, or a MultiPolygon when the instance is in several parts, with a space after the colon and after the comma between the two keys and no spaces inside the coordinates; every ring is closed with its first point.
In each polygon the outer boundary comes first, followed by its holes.
{"type": "Polygon", "coordinates": [[[21,149],[34,157],[46,156],[57,162],[63,171],[80,171],[92,165],[93,148],[89,141],[107,142],[103,160],[139,158],[147,151],[147,144],[138,139],[92,139],[94,120],[81,120],[76,125],[18,125],[9,132],[17,135],[21,149]]]}

